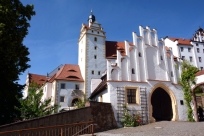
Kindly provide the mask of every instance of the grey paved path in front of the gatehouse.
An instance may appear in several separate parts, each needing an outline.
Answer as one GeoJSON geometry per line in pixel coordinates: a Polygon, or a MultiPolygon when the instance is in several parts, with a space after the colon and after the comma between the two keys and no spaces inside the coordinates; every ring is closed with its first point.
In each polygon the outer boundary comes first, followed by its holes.
{"type": "Polygon", "coordinates": [[[204,136],[204,122],[162,121],[132,128],[119,128],[96,136],[204,136]]]}

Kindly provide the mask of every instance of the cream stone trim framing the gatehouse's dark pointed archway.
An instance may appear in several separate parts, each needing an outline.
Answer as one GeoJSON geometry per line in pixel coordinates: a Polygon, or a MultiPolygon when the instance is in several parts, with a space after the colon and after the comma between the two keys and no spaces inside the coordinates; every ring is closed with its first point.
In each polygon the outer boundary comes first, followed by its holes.
{"type": "Polygon", "coordinates": [[[165,84],[163,83],[158,83],[156,85],[153,86],[153,88],[150,91],[150,95],[149,95],[149,99],[148,99],[148,103],[149,103],[149,119],[150,122],[155,122],[154,117],[152,117],[152,104],[151,104],[151,98],[152,98],[152,94],[153,92],[157,89],[157,88],[162,88],[164,91],[166,91],[170,98],[171,98],[171,103],[172,103],[172,112],[173,112],[173,117],[172,117],[172,121],[176,121],[178,120],[178,110],[177,110],[177,101],[176,101],[176,97],[174,95],[174,93],[171,91],[171,89],[169,89],[169,87],[167,87],[165,84]]]}

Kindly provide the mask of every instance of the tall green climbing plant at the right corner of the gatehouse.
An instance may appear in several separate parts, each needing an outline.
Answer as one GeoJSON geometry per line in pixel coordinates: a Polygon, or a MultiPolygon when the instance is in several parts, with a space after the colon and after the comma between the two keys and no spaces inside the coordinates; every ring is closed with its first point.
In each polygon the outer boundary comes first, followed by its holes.
{"type": "Polygon", "coordinates": [[[192,115],[194,114],[195,121],[198,121],[197,114],[197,102],[195,96],[195,90],[191,88],[196,84],[196,73],[199,71],[197,67],[190,64],[188,61],[181,63],[182,73],[179,80],[184,92],[184,99],[188,107],[188,120],[194,121],[192,115]],[[193,102],[193,109],[191,108],[191,102],[193,102]]]}

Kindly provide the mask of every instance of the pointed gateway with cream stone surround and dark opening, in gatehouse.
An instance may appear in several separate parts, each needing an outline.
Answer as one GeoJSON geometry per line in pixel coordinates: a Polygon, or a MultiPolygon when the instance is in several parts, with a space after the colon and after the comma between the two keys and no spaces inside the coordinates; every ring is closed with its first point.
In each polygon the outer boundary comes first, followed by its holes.
{"type": "Polygon", "coordinates": [[[164,84],[153,87],[150,96],[150,121],[177,120],[177,105],[173,92],[164,84]]]}

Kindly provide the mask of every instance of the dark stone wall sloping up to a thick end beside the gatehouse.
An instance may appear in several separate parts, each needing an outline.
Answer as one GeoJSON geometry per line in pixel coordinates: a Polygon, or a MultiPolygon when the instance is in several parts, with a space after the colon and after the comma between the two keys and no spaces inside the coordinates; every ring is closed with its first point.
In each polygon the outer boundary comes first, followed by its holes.
{"type": "Polygon", "coordinates": [[[110,103],[88,102],[85,108],[0,126],[0,132],[88,121],[94,121],[97,124],[96,132],[117,127],[110,103]]]}

